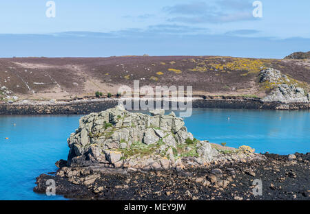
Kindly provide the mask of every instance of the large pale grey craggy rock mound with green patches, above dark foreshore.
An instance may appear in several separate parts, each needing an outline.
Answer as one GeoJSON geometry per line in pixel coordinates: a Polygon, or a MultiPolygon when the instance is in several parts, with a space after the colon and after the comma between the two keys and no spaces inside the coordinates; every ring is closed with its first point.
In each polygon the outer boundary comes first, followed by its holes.
{"type": "Polygon", "coordinates": [[[68,139],[68,166],[167,169],[182,167],[177,160],[183,157],[203,162],[217,154],[207,141],[194,139],[174,112],[154,110],[151,115],[116,106],[81,117],[68,139]]]}

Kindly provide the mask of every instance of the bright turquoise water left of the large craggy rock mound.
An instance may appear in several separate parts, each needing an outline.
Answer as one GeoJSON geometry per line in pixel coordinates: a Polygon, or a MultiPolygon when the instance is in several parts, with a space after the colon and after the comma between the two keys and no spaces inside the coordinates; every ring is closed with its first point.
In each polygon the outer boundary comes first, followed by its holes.
{"type": "Polygon", "coordinates": [[[78,121],[78,116],[0,117],[0,200],[64,199],[32,189],[37,176],[56,171],[56,160],[67,158],[66,139],[78,121]]]}

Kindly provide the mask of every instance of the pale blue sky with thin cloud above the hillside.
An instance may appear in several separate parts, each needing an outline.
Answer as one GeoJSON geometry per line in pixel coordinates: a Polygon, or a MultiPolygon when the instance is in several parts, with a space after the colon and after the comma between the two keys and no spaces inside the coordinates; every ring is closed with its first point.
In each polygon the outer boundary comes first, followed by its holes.
{"type": "Polygon", "coordinates": [[[1,57],[222,55],[282,58],[310,49],[310,1],[45,0],[0,3],[1,57]]]}

